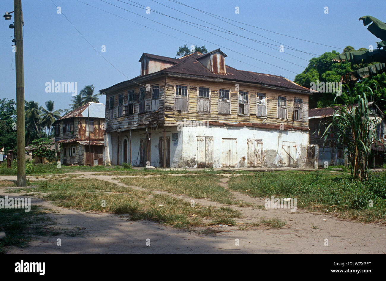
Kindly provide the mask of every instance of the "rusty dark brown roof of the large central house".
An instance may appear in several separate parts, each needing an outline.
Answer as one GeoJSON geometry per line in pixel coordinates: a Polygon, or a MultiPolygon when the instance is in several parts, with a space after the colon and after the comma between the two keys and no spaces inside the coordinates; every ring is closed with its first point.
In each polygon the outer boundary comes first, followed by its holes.
{"type": "MultiPolygon", "coordinates": [[[[219,49],[214,51],[220,51],[219,49]]],[[[213,51],[212,51],[213,52],[213,51]]],[[[142,56],[146,55],[147,57],[151,57],[154,59],[165,60],[164,56],[157,56],[153,54],[143,53],[142,56]]],[[[256,83],[260,85],[266,85],[271,87],[280,87],[283,89],[296,90],[298,92],[304,92],[305,94],[311,94],[310,89],[306,87],[302,87],[295,82],[292,82],[283,76],[278,75],[270,75],[265,73],[237,70],[231,66],[225,65],[226,74],[216,74],[212,73],[208,68],[206,68],[202,63],[200,63],[197,58],[202,58],[206,54],[201,54],[199,52],[192,53],[183,58],[173,59],[169,58],[169,61],[174,62],[175,64],[165,68],[159,72],[154,72],[147,74],[150,76],[154,75],[164,75],[164,74],[174,74],[174,75],[194,75],[203,78],[211,78],[218,80],[229,80],[229,81],[239,81],[246,83],[256,83]]],[[[142,58],[142,57],[141,57],[142,58]]],[[[115,90],[118,87],[124,87],[126,84],[136,82],[136,80],[144,80],[147,75],[138,76],[133,78],[132,80],[127,80],[124,82],[117,83],[111,87],[100,90],[101,93],[105,93],[106,91],[115,90]]]]}

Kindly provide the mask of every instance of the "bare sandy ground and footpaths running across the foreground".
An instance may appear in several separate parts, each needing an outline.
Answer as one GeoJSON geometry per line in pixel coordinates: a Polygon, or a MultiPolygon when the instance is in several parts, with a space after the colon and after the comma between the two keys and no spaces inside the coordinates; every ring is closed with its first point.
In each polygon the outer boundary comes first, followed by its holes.
{"type": "MultiPolygon", "coordinates": [[[[112,180],[117,176],[80,173],[81,177],[112,180]]],[[[14,180],[14,176],[0,176],[14,180]]],[[[34,180],[33,178],[30,179],[34,180]]],[[[227,179],[222,180],[227,188],[227,179]]],[[[1,196],[17,196],[0,187],[1,196]]],[[[132,188],[141,189],[140,187],[132,188]]],[[[163,191],[152,191],[165,193],[163,191]]],[[[264,204],[262,198],[252,198],[232,191],[236,199],[264,204]]],[[[190,201],[188,196],[172,195],[190,201]]],[[[196,199],[203,205],[223,206],[205,199],[196,199]]],[[[127,216],[107,213],[82,212],[56,207],[50,202],[32,197],[32,204],[57,210],[49,214],[60,227],[83,229],[81,236],[37,237],[27,248],[10,248],[10,254],[385,254],[386,227],[375,223],[340,220],[332,214],[311,213],[297,209],[260,209],[230,206],[239,209],[241,222],[255,222],[261,218],[280,218],[287,225],[283,228],[258,227],[239,230],[237,227],[213,227],[219,233],[198,234],[164,227],[151,221],[129,221],[127,216]],[[318,228],[311,228],[314,225],[318,228]],[[61,239],[61,246],[57,239],[61,239]],[[325,246],[328,239],[328,246],[325,246]],[[150,241],[150,245],[147,242],[150,241]]]]}

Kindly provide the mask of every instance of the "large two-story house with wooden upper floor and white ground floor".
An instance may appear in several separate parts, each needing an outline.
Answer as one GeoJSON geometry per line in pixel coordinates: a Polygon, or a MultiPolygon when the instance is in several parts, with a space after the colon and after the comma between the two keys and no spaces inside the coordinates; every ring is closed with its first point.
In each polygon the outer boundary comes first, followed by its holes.
{"type": "Polygon", "coordinates": [[[143,53],[140,76],[100,90],[105,164],[304,166],[310,90],[232,68],[226,56],[220,49],[178,59],[143,53]]]}

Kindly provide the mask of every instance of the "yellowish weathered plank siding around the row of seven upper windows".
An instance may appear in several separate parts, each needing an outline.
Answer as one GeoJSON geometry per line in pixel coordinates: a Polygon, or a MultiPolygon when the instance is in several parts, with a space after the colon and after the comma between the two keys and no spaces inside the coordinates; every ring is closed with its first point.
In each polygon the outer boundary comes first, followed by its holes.
{"type": "Polygon", "coordinates": [[[251,84],[239,84],[239,90],[248,92],[249,102],[249,114],[247,116],[238,114],[238,92],[235,90],[234,83],[226,82],[206,82],[197,80],[180,80],[178,78],[166,79],[165,88],[165,123],[175,124],[175,119],[191,119],[191,120],[217,120],[217,121],[231,121],[231,122],[250,122],[250,123],[261,123],[264,124],[281,124],[305,127],[308,128],[308,95],[296,94],[291,92],[277,91],[271,89],[265,89],[258,85],[251,84]],[[188,86],[188,111],[180,112],[174,111],[174,93],[175,85],[187,85],[188,86]],[[198,87],[210,88],[210,112],[203,113],[197,112],[197,93],[198,87]],[[219,89],[230,90],[230,114],[218,114],[218,91],[219,89]],[[256,116],[256,93],[266,94],[266,113],[267,117],[256,116]],[[278,118],[278,96],[286,97],[287,107],[287,119],[278,118]],[[294,98],[302,99],[303,108],[303,120],[293,120],[294,110],[294,98]]]}

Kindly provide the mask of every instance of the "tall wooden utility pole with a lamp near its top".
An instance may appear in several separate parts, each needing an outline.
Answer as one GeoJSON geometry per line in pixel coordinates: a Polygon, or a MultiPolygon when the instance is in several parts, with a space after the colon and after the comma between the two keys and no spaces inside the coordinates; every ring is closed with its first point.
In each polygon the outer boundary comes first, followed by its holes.
{"type": "Polygon", "coordinates": [[[17,125],[17,186],[25,182],[25,124],[24,124],[24,63],[23,63],[23,12],[21,0],[14,0],[15,11],[15,66],[16,66],[16,125],[17,125]]]}

